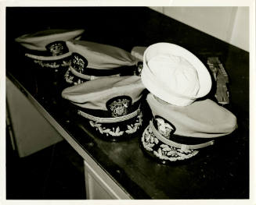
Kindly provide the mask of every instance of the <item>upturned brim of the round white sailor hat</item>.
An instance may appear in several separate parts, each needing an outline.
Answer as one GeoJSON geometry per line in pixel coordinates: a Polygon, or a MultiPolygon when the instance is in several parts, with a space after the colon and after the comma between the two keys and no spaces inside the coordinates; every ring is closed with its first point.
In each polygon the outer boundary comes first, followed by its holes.
{"type": "MultiPolygon", "coordinates": [[[[161,71],[159,70],[159,72],[161,71]]],[[[157,43],[146,48],[143,55],[143,69],[141,77],[142,83],[152,94],[156,95],[163,101],[178,106],[189,105],[197,98],[207,95],[211,90],[211,76],[204,64],[200,62],[197,56],[193,55],[193,53],[176,44],[157,43]],[[198,90],[196,96],[184,96],[182,94],[173,92],[173,90],[170,90],[165,86],[166,82],[158,80],[157,76],[153,75],[148,66],[148,62],[151,58],[159,54],[179,56],[185,58],[186,61],[193,65],[193,67],[197,70],[198,80],[200,83],[200,89],[198,90]]]]}

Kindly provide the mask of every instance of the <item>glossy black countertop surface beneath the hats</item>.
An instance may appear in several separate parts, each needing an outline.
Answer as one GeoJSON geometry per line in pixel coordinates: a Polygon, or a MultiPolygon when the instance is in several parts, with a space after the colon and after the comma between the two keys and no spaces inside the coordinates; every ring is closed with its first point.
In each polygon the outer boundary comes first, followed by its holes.
{"type": "MultiPolygon", "coordinates": [[[[70,133],[70,137],[133,198],[249,197],[248,52],[143,7],[7,8],[6,34],[7,76],[16,85],[25,87],[70,133]],[[37,23],[30,23],[28,19],[31,16],[37,19],[37,23]],[[27,23],[21,26],[22,22],[27,23]],[[112,44],[127,51],[131,51],[133,46],[165,41],[187,48],[204,63],[207,56],[218,56],[229,74],[231,103],[227,108],[236,115],[238,129],[193,160],[170,165],[158,164],[142,152],[139,147],[141,133],[118,143],[101,140],[84,119],[73,113],[67,101],[60,97],[61,91],[56,91],[53,98],[47,96],[47,90],[44,90],[45,97],[38,94],[35,71],[27,65],[22,49],[13,42],[20,34],[47,27],[85,28],[82,39],[112,44]]],[[[208,97],[212,97],[211,94],[208,97]]]]}

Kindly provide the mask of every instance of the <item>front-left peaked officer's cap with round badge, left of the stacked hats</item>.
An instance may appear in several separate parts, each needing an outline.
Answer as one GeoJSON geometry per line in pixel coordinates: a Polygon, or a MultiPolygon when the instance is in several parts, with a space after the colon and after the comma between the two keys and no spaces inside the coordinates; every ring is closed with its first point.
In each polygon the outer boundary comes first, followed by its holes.
{"type": "Polygon", "coordinates": [[[142,126],[140,103],[145,87],[139,76],[112,76],[68,87],[62,97],[105,140],[123,140],[142,126]]]}

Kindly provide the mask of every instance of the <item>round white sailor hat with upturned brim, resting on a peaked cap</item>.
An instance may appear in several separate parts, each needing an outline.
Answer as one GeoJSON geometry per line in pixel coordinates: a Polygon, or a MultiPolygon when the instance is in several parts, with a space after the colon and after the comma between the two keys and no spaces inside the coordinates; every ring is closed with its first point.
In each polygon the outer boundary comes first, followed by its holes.
{"type": "Polygon", "coordinates": [[[146,48],[141,77],[150,93],[178,106],[191,104],[211,90],[211,76],[204,64],[176,44],[146,48]]]}

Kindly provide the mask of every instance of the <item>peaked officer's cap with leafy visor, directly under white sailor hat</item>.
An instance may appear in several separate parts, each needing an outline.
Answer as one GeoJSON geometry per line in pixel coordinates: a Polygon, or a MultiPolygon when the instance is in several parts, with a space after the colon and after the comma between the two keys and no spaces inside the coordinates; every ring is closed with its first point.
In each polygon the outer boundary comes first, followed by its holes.
{"type": "Polygon", "coordinates": [[[183,161],[236,129],[236,116],[209,99],[188,106],[168,104],[153,94],[146,101],[153,119],[142,133],[142,150],[161,162],[183,161]]]}

